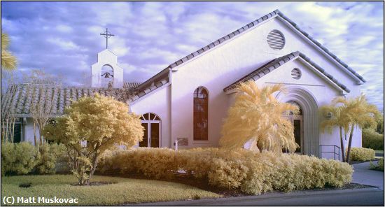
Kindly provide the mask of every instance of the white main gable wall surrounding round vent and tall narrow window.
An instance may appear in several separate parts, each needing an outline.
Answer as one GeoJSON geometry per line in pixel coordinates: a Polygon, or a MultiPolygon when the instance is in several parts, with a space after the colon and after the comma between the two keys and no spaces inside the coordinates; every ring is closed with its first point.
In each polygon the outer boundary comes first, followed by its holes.
{"type": "MultiPolygon", "coordinates": [[[[303,52],[337,78],[340,83],[346,85],[351,90],[347,97],[359,94],[360,86],[356,84],[357,80],[351,78],[322,52],[295,34],[286,24],[273,19],[176,68],[177,71],[174,71],[172,76],[172,138],[188,137],[189,147],[217,146],[221,137],[223,118],[230,106],[229,97],[223,92],[223,88],[262,64],[297,50],[303,52]],[[285,36],[286,45],[283,50],[272,50],[267,45],[267,34],[273,29],[278,29],[285,36]],[[207,142],[193,141],[193,92],[200,86],[209,90],[209,141],[207,142]]],[[[271,82],[281,82],[284,80],[282,78],[286,78],[272,74],[266,77],[272,78],[271,82]]],[[[303,80],[311,84],[316,80],[316,76],[309,75],[307,78],[309,80],[306,78],[303,80]]],[[[337,95],[330,87],[316,85],[303,87],[314,90],[316,94],[322,94],[323,97],[317,99],[318,106],[330,103],[331,99],[337,95]]],[[[331,141],[332,138],[329,137],[332,136],[321,135],[323,138],[321,143],[331,141]]],[[[360,131],[356,131],[353,145],[360,145],[358,136],[360,136],[360,131]]]]}

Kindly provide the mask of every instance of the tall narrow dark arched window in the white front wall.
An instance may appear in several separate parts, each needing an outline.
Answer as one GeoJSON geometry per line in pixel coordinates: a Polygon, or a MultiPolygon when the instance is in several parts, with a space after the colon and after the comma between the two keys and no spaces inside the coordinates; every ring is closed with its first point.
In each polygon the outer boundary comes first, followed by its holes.
{"type": "Polygon", "coordinates": [[[209,140],[209,93],[204,87],[194,92],[194,140],[209,140]]]}

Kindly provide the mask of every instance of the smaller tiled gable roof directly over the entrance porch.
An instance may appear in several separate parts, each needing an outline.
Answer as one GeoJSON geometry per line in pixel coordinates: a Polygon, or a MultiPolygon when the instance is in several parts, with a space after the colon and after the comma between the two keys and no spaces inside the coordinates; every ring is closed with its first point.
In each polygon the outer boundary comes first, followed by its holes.
{"type": "Polygon", "coordinates": [[[335,85],[338,85],[342,90],[346,92],[350,92],[350,90],[343,85],[342,83],[339,83],[337,79],[335,79],[333,76],[331,76],[329,73],[327,73],[324,69],[322,69],[318,64],[311,61],[309,57],[304,55],[302,52],[292,52],[288,55],[284,55],[282,57],[278,57],[276,59],[273,59],[272,61],[268,62],[267,64],[260,66],[258,69],[255,69],[255,71],[252,71],[251,73],[248,73],[243,78],[240,78],[239,80],[235,81],[235,83],[232,83],[228,87],[225,87],[223,91],[232,90],[235,87],[237,87],[240,83],[244,83],[248,80],[258,80],[262,76],[265,76],[267,73],[270,73],[271,71],[274,71],[275,69],[278,69],[283,64],[286,64],[286,62],[289,62],[291,59],[295,59],[296,57],[302,57],[307,63],[311,64],[311,66],[314,66],[317,71],[325,75],[328,80],[330,80],[332,83],[335,83],[335,85]]]}

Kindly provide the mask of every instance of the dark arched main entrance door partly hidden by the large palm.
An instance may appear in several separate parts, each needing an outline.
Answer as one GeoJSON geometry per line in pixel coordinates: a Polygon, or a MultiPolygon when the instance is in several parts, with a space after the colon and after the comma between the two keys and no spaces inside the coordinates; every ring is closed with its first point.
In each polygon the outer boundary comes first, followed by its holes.
{"type": "Polygon", "coordinates": [[[294,114],[293,111],[290,111],[288,115],[286,115],[286,118],[290,120],[291,124],[293,124],[294,127],[294,139],[295,143],[297,143],[300,148],[297,148],[295,150],[295,153],[299,153],[301,155],[304,154],[304,127],[303,127],[303,114],[302,114],[302,108],[300,104],[298,104],[295,101],[288,101],[287,103],[291,103],[299,108],[299,113],[294,114]]]}

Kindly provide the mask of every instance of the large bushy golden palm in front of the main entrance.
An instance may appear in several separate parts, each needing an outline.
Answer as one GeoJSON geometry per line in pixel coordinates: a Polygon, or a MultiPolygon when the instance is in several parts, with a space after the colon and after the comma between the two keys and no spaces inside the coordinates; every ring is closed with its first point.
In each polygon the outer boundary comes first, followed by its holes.
{"type": "Polygon", "coordinates": [[[286,92],[283,85],[273,85],[259,88],[254,81],[241,83],[237,87],[235,103],[228,110],[219,141],[224,148],[241,148],[252,140],[252,148],[262,152],[271,150],[282,152],[287,149],[294,152],[295,143],[293,124],[283,115],[289,111],[298,113],[297,106],[281,103],[275,92],[286,92]],[[256,148],[255,148],[256,147],[256,148]]]}

